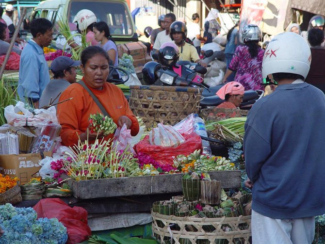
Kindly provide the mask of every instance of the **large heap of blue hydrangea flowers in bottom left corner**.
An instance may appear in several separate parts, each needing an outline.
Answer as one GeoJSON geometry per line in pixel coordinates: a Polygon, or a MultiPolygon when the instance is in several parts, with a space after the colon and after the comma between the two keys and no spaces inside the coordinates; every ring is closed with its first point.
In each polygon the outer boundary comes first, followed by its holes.
{"type": "Polygon", "coordinates": [[[37,218],[33,208],[15,208],[10,203],[0,206],[0,243],[65,244],[66,228],[55,218],[37,218]]]}

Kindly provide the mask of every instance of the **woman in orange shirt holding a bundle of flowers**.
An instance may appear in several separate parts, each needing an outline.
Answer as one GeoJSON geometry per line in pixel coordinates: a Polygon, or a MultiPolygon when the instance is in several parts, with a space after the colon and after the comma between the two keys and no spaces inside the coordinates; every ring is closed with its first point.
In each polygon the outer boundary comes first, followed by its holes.
{"type": "MultiPolygon", "coordinates": [[[[127,99],[120,88],[106,82],[109,75],[109,56],[104,49],[96,46],[88,47],[81,54],[82,81],[94,93],[114,123],[122,127],[124,124],[135,136],[139,132],[137,118],[132,113],[127,99]]],[[[62,93],[60,100],[72,98],[58,105],[59,121],[62,126],[61,139],[65,146],[77,145],[78,141],[87,140],[93,142],[96,138],[102,138],[102,133],[91,133],[89,127],[89,115],[101,113],[94,99],[79,83],[74,83],[62,93]]],[[[105,137],[105,140],[113,138],[113,134],[105,137]]]]}

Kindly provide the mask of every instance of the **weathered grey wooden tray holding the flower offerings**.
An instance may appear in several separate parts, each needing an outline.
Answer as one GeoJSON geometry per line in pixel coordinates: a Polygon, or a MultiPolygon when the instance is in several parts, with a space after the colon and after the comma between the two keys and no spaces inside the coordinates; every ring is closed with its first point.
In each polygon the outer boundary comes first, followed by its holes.
{"type": "MultiPolygon", "coordinates": [[[[241,186],[241,171],[211,171],[211,179],[220,180],[222,188],[241,186]]],[[[124,177],[114,179],[67,180],[77,199],[181,193],[183,174],[124,177]]]]}

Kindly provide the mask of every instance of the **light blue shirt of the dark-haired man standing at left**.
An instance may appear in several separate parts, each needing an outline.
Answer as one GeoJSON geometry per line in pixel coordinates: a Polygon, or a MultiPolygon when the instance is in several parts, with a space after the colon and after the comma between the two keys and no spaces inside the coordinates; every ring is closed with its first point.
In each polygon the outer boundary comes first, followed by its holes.
{"type": "Polygon", "coordinates": [[[23,102],[25,102],[25,98],[39,100],[49,81],[49,67],[44,51],[30,40],[20,56],[17,88],[19,99],[23,102]]]}

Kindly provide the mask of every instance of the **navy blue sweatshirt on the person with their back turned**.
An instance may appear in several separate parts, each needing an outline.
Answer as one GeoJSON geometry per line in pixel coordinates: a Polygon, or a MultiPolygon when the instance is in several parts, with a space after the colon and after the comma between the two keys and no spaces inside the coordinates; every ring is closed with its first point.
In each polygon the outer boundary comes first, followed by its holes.
{"type": "Polygon", "coordinates": [[[325,213],[325,95],[303,82],[258,100],[245,124],[252,209],[274,219],[325,213]]]}

